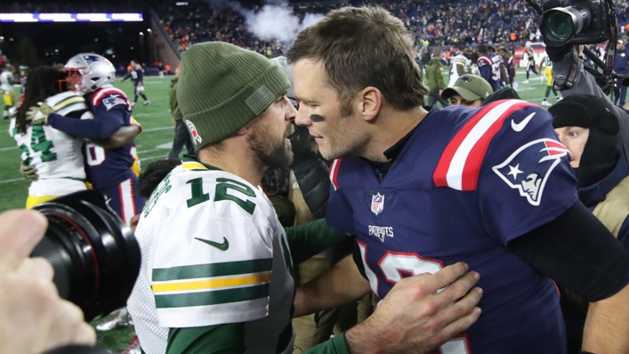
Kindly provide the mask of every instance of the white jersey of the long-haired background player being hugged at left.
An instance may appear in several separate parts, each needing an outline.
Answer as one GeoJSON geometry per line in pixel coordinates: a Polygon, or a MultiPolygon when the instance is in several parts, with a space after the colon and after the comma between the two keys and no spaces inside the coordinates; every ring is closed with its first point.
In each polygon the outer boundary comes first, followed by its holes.
{"type": "MultiPolygon", "coordinates": [[[[85,99],[77,93],[59,93],[45,102],[61,116],[75,113],[82,118],[93,117],[85,99]]],[[[23,135],[13,127],[12,137],[20,148],[22,162],[34,165],[39,175],[39,180],[28,187],[29,196],[64,196],[85,189],[83,139],[50,125],[30,125],[23,135]]]]}

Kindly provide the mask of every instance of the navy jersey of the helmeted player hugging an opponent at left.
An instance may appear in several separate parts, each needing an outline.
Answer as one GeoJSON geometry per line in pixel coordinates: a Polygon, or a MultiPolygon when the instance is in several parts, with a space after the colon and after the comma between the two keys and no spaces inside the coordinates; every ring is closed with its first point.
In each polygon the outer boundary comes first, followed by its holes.
{"type": "MultiPolygon", "coordinates": [[[[117,119],[118,126],[131,125],[131,103],[125,93],[105,87],[90,98],[93,119],[117,119]]],[[[104,189],[132,178],[136,156],[135,142],[118,149],[103,149],[91,142],[85,144],[85,170],[94,189],[104,189]]]]}

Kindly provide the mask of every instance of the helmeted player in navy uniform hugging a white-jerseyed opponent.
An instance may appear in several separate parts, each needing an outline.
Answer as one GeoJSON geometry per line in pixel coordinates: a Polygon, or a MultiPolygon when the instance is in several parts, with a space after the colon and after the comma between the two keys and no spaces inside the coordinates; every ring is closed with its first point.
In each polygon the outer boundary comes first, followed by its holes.
{"type": "MultiPolygon", "coordinates": [[[[64,133],[99,141],[115,133],[120,127],[132,125],[131,102],[125,93],[112,85],[116,68],[98,54],[82,53],[70,58],[62,69],[68,73],[68,84],[83,93],[92,109],[93,119],[73,119],[51,113],[43,104],[29,111],[33,124],[48,124],[64,133]]],[[[65,84],[65,83],[61,83],[65,84]]],[[[117,149],[104,149],[93,142],[85,143],[85,170],[94,189],[109,197],[111,206],[129,224],[140,213],[144,198],[135,185],[138,176],[132,167],[136,159],[135,142],[117,149]]]]}

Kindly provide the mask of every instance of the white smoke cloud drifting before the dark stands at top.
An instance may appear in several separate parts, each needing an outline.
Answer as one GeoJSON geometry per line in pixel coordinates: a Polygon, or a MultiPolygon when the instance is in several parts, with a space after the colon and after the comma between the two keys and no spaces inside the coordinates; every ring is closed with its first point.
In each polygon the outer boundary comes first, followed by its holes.
{"type": "Polygon", "coordinates": [[[240,12],[246,19],[246,28],[254,36],[263,40],[278,39],[281,42],[292,42],[297,34],[325,15],[321,13],[306,13],[300,22],[299,17],[293,13],[293,7],[285,0],[269,0],[258,12],[245,9],[235,1],[209,0],[209,4],[215,8],[230,7],[240,12]]]}

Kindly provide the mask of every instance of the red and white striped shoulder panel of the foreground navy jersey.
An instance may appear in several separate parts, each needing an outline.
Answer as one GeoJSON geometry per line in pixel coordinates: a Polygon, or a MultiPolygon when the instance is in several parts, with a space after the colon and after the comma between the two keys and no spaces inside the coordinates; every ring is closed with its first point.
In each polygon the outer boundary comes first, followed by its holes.
{"type": "Polygon", "coordinates": [[[537,109],[544,110],[527,101],[502,100],[472,111],[468,121],[455,134],[439,158],[432,175],[435,186],[476,190],[480,167],[489,143],[503,129],[504,121],[512,117],[510,125],[514,126],[509,129],[519,132],[536,115],[537,109]],[[529,107],[534,108],[533,114],[522,119],[518,118],[523,114],[522,109],[529,107]]]}

